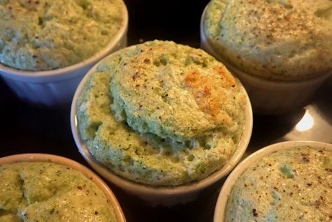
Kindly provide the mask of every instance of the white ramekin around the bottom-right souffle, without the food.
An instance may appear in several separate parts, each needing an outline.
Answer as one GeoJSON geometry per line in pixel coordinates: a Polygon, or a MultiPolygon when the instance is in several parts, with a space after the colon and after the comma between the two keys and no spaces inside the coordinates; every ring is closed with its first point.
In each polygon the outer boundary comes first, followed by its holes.
{"type": "Polygon", "coordinates": [[[264,147],[263,149],[259,149],[255,151],[253,154],[245,158],[245,160],[241,161],[236,168],[231,172],[229,177],[227,177],[224,185],[222,186],[222,190],[219,193],[217,204],[215,206],[215,215],[214,222],[222,222],[224,221],[226,204],[231,195],[231,190],[240,177],[240,175],[245,172],[250,165],[256,163],[260,158],[264,156],[268,156],[269,154],[274,153],[275,151],[280,151],[283,149],[289,149],[291,147],[300,147],[300,146],[309,146],[314,149],[322,149],[332,151],[332,145],[325,142],[315,142],[315,141],[287,141],[287,142],[279,142],[273,145],[264,147]]]}

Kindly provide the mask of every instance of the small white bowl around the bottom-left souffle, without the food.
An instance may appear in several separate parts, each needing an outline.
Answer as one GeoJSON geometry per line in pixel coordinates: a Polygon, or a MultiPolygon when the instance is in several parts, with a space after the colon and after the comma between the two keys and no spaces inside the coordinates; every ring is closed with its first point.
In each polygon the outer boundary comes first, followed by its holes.
{"type": "Polygon", "coordinates": [[[109,200],[109,205],[113,209],[115,213],[115,217],[118,222],[125,222],[126,219],[122,212],[119,202],[117,202],[117,198],[113,192],[108,188],[108,186],[103,182],[103,180],[98,177],[92,170],[86,168],[84,165],[73,161],[69,158],[65,158],[62,156],[56,156],[52,154],[17,154],[13,156],[5,156],[0,158],[0,165],[3,164],[10,164],[10,163],[18,163],[18,162],[52,162],[52,163],[59,163],[62,165],[66,165],[74,170],[82,172],[87,178],[91,179],[96,186],[101,188],[101,191],[105,193],[106,197],[109,200]]]}

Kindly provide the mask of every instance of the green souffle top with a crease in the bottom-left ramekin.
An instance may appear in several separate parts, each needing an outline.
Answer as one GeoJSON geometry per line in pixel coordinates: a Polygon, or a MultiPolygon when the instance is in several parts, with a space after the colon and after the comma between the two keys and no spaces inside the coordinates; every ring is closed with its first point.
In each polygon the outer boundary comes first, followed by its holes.
{"type": "Polygon", "coordinates": [[[106,195],[65,165],[0,166],[0,221],[115,221],[106,195]]]}

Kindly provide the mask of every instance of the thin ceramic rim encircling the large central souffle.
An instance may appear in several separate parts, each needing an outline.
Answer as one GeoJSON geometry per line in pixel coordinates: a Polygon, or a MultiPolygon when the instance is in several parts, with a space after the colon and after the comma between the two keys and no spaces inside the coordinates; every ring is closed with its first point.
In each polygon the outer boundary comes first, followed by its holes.
{"type": "MultiPolygon", "coordinates": [[[[130,47],[135,47],[135,45],[132,45],[130,47]]],[[[122,50],[119,50],[115,53],[119,53],[122,50]]],[[[78,101],[78,96],[80,95],[82,88],[87,82],[89,76],[92,75],[92,73],[94,73],[99,64],[101,64],[107,58],[108,57],[99,61],[99,63],[96,64],[94,67],[92,67],[90,71],[87,73],[87,75],[83,77],[80,84],[78,85],[78,88],[75,91],[75,95],[73,96],[73,102],[71,104],[71,131],[73,133],[73,138],[80,151],[80,154],[82,154],[82,156],[92,166],[92,168],[94,168],[94,170],[96,170],[97,172],[99,172],[99,174],[108,179],[108,181],[112,182],[113,184],[115,184],[120,188],[123,188],[126,191],[133,191],[138,195],[154,195],[157,197],[163,197],[165,195],[177,196],[189,193],[196,193],[197,191],[201,191],[203,188],[214,184],[215,182],[225,177],[229,172],[231,172],[231,170],[235,167],[236,163],[240,161],[240,158],[245,153],[245,150],[247,149],[247,146],[250,142],[250,138],[252,135],[252,126],[253,126],[252,106],[250,103],[249,96],[247,95],[247,92],[245,91],[245,88],[241,83],[240,84],[243,89],[243,92],[245,93],[246,103],[247,103],[245,107],[245,127],[243,135],[239,142],[238,149],[235,151],[233,156],[231,156],[229,161],[226,162],[224,167],[221,168],[220,170],[217,170],[216,172],[212,172],[212,174],[209,175],[208,177],[205,177],[204,179],[201,179],[198,182],[192,182],[190,184],[185,184],[180,186],[149,186],[145,184],[131,182],[129,179],[124,179],[123,177],[115,175],[115,173],[108,170],[106,166],[96,161],[96,159],[91,154],[89,154],[85,141],[80,139],[80,135],[78,132],[78,121],[76,117],[77,101],[78,101]]]]}

